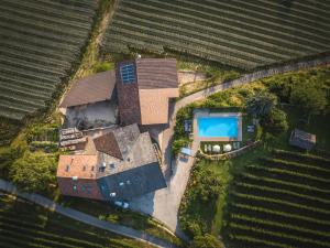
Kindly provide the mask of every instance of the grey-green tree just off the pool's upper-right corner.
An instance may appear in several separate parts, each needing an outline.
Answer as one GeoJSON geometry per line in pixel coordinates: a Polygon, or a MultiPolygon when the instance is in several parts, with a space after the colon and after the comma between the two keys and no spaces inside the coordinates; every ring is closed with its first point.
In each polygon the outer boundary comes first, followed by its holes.
{"type": "Polygon", "coordinates": [[[246,100],[246,111],[255,117],[267,116],[276,106],[277,98],[266,90],[251,96],[246,100]]]}

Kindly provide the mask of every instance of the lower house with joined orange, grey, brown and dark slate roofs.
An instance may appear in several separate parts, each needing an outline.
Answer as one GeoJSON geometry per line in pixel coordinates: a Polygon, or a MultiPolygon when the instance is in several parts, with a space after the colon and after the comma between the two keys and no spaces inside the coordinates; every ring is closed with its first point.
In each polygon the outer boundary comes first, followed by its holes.
{"type": "Polygon", "coordinates": [[[136,123],[87,140],[81,153],[59,157],[62,194],[117,201],[166,187],[150,134],[141,133],[136,123]]]}

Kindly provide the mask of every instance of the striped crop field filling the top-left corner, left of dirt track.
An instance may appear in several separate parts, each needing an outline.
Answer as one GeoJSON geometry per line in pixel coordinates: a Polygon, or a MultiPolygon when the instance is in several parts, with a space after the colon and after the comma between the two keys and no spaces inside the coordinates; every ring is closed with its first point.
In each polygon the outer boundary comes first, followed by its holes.
{"type": "Polygon", "coordinates": [[[0,1],[0,117],[45,107],[86,44],[95,0],[0,1]]]}

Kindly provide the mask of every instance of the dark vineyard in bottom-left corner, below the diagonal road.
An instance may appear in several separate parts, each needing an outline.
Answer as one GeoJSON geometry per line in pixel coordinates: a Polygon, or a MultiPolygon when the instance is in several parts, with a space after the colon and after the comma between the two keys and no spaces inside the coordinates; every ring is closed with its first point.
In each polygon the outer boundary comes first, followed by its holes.
{"type": "MultiPolygon", "coordinates": [[[[50,213],[28,202],[0,197],[0,247],[134,248],[142,244],[50,213]]],[[[148,247],[144,245],[144,247],[148,247]]]]}

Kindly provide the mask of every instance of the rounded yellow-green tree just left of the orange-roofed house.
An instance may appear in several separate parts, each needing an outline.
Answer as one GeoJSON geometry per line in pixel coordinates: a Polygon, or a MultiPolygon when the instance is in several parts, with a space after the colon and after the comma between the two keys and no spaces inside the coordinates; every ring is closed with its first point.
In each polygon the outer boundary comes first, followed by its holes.
{"type": "Polygon", "coordinates": [[[43,152],[25,152],[10,168],[9,175],[24,191],[45,191],[55,181],[56,164],[43,152]]]}

